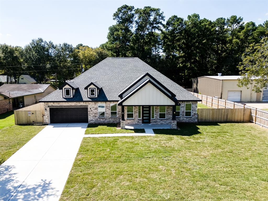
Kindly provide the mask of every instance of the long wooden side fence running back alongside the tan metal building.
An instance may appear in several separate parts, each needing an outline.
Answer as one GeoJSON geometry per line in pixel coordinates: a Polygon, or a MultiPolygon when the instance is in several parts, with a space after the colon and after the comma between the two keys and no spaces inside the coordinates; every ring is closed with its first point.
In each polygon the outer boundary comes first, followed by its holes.
{"type": "Polygon", "coordinates": [[[268,128],[268,111],[261,110],[255,107],[250,107],[241,103],[226,101],[224,99],[219,99],[193,92],[191,93],[196,97],[200,98],[202,100],[202,104],[213,108],[229,108],[229,109],[248,108],[250,109],[249,121],[258,124],[260,126],[264,126],[265,128],[268,128]]]}

